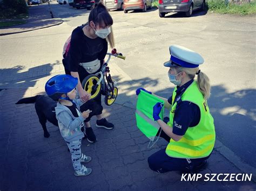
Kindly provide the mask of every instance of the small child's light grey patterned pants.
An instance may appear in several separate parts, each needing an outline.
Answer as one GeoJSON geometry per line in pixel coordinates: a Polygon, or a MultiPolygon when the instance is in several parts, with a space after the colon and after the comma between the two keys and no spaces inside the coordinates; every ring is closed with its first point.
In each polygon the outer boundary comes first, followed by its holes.
{"type": "Polygon", "coordinates": [[[72,159],[72,163],[75,171],[82,171],[82,166],[80,162],[81,143],[82,143],[82,139],[75,140],[73,142],[66,142],[71,153],[71,159],[72,159]]]}

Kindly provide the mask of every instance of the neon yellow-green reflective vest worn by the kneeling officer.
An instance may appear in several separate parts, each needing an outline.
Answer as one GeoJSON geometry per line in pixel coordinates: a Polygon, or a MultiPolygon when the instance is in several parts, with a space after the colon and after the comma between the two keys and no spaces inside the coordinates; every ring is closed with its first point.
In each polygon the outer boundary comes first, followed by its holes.
{"type": "MultiPolygon", "coordinates": [[[[172,108],[170,111],[170,121],[167,123],[173,126],[173,117],[175,115],[177,87],[172,93],[172,108]]],[[[200,109],[200,121],[198,125],[188,127],[185,135],[178,142],[173,139],[166,147],[166,154],[174,158],[204,158],[211,154],[215,143],[215,129],[213,124],[213,117],[210,114],[208,105],[204,100],[203,94],[198,89],[196,81],[185,90],[180,97],[181,101],[188,101],[198,105],[200,109]]],[[[178,100],[178,99],[177,99],[178,100]]]]}

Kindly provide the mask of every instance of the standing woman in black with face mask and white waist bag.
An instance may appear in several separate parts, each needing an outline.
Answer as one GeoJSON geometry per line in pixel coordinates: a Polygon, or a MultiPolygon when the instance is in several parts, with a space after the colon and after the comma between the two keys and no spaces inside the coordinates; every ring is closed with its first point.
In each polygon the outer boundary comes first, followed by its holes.
{"type": "MultiPolygon", "coordinates": [[[[73,30],[70,43],[64,46],[63,64],[65,73],[78,78],[76,89],[84,102],[90,100],[91,95],[82,87],[82,81],[87,75],[99,72],[107,53],[107,43],[112,48],[114,47],[112,24],[113,19],[106,7],[102,3],[95,4],[90,12],[89,21],[73,30]]],[[[102,106],[100,94],[95,98],[95,101],[102,106]]],[[[96,115],[96,126],[113,129],[114,125],[103,118],[102,110],[103,107],[96,115]]],[[[90,121],[85,120],[85,126],[87,140],[90,143],[96,142],[97,139],[90,121]]]]}

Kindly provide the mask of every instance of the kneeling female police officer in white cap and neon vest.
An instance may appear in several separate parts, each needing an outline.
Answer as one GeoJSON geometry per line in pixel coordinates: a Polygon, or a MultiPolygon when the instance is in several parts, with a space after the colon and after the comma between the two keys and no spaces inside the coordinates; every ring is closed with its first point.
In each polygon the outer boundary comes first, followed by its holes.
{"type": "MultiPolygon", "coordinates": [[[[215,142],[213,118],[207,105],[211,87],[208,77],[199,69],[204,62],[201,55],[177,45],[170,46],[170,54],[170,61],[164,66],[170,67],[168,76],[176,87],[169,99],[160,97],[165,101],[165,108],[170,108],[167,124],[159,117],[160,103],[153,107],[153,118],[162,130],[159,130],[160,137],[169,144],[152,154],[148,162],[153,171],[160,173],[194,172],[206,166],[215,142]]],[[[141,90],[151,93],[139,88],[136,94],[141,90]]]]}

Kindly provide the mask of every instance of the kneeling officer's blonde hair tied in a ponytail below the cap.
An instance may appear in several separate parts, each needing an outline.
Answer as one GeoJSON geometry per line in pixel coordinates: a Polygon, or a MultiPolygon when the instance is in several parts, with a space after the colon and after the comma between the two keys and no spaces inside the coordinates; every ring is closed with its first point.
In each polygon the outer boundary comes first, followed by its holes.
{"type": "Polygon", "coordinates": [[[175,67],[177,72],[185,72],[190,79],[194,79],[197,74],[197,83],[198,89],[203,94],[204,99],[207,100],[211,95],[211,85],[208,76],[200,72],[199,68],[184,68],[184,67],[175,67]]]}

